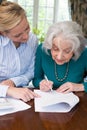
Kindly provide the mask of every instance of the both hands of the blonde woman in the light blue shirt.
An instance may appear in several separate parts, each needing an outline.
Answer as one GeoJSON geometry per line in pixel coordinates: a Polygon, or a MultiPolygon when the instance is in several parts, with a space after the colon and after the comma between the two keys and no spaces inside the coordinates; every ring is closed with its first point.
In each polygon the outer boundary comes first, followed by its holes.
{"type": "Polygon", "coordinates": [[[30,101],[35,97],[40,97],[38,94],[34,93],[28,88],[16,88],[12,80],[4,80],[0,84],[9,86],[7,90],[7,96],[11,96],[16,99],[21,99],[24,102],[30,101]]]}

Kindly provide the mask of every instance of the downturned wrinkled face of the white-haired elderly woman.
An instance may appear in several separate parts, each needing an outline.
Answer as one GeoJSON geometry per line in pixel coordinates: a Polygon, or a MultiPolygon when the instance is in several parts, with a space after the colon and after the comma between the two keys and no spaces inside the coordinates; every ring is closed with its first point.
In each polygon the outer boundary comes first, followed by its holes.
{"type": "Polygon", "coordinates": [[[72,44],[68,40],[63,40],[61,37],[54,38],[51,55],[53,60],[59,65],[68,62],[73,56],[72,44]]]}

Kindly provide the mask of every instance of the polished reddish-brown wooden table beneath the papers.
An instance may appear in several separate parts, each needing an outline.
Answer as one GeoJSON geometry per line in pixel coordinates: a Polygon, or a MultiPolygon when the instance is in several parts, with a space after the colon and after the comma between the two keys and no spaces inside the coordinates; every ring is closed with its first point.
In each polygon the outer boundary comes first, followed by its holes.
{"type": "Polygon", "coordinates": [[[0,130],[87,130],[87,94],[76,93],[80,102],[69,113],[34,112],[34,101],[28,110],[0,116],[0,130]]]}

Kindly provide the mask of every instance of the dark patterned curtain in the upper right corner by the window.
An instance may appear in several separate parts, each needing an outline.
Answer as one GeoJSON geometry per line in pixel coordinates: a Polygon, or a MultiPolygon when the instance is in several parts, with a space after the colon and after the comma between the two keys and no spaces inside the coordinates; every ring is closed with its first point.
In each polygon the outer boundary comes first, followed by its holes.
{"type": "Polygon", "coordinates": [[[84,36],[87,38],[87,0],[69,0],[71,17],[82,26],[84,36]]]}

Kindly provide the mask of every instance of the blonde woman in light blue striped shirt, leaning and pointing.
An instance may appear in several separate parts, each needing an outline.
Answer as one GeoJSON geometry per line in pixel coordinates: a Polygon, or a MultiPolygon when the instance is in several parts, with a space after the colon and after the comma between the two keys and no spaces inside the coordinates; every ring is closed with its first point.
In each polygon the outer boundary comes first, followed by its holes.
{"type": "Polygon", "coordinates": [[[14,2],[0,0],[0,97],[27,102],[37,94],[26,86],[34,76],[37,38],[26,13],[14,2]]]}

